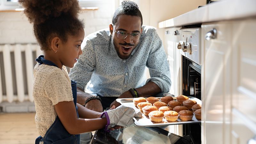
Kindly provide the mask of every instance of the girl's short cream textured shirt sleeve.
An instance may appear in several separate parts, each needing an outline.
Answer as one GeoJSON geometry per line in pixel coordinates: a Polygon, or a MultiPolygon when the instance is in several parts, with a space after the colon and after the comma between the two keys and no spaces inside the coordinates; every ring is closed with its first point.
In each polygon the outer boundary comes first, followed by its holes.
{"type": "Polygon", "coordinates": [[[73,101],[71,82],[68,75],[60,72],[52,72],[44,85],[44,92],[52,105],[61,101],[73,101]]]}

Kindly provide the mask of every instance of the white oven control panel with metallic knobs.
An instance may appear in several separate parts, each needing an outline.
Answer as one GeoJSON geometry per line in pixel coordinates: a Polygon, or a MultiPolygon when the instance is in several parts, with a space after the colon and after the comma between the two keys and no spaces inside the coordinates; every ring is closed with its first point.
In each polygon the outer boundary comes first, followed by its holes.
{"type": "Polygon", "coordinates": [[[177,48],[180,54],[201,65],[201,28],[181,28],[177,48]]]}

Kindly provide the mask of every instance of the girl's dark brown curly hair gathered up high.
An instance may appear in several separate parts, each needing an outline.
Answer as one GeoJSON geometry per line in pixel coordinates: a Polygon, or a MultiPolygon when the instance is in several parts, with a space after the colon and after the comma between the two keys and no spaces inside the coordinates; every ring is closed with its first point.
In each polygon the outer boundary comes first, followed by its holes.
{"type": "Polygon", "coordinates": [[[19,0],[24,13],[33,24],[34,34],[41,50],[49,50],[51,39],[76,36],[84,24],[78,19],[81,8],[77,0],[19,0]]]}

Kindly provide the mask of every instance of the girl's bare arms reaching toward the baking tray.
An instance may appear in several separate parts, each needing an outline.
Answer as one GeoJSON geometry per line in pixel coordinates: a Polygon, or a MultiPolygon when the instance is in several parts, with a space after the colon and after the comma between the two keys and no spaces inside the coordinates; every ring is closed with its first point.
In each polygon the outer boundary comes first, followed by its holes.
{"type": "Polygon", "coordinates": [[[82,114],[82,117],[93,119],[79,119],[76,116],[76,108],[73,101],[62,101],[54,105],[61,123],[70,134],[92,132],[107,125],[106,117],[97,118],[101,113],[86,108],[81,108],[81,105],[79,104],[77,104],[77,107],[78,112],[82,114]]]}

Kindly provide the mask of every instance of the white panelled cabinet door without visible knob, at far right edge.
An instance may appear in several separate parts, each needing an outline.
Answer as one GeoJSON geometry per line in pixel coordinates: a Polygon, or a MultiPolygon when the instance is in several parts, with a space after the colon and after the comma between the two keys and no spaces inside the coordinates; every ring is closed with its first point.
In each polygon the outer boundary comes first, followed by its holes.
{"type": "Polygon", "coordinates": [[[256,135],[256,19],[233,24],[231,143],[256,135]]]}

